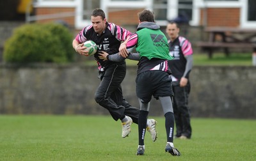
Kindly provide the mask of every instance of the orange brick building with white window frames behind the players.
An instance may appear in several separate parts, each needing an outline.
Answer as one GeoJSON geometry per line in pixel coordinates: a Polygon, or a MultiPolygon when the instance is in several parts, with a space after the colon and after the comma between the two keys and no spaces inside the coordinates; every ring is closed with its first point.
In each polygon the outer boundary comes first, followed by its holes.
{"type": "Polygon", "coordinates": [[[136,26],[138,11],[154,11],[157,24],[175,19],[182,13],[191,26],[256,26],[256,1],[253,0],[37,0],[32,3],[35,17],[45,22],[61,19],[74,29],[90,24],[93,8],[106,11],[109,22],[121,26],[136,26]]]}

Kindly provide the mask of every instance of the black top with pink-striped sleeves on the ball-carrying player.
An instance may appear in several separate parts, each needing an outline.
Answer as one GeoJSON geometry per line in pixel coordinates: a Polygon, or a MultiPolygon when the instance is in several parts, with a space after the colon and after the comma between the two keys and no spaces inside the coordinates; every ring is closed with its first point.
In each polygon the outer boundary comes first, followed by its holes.
{"type": "MultiPolygon", "coordinates": [[[[89,25],[84,27],[76,36],[76,40],[79,43],[92,40],[98,46],[98,50],[108,52],[109,55],[119,52],[119,47],[122,41],[127,36],[131,35],[131,32],[116,24],[106,22],[106,29],[102,34],[95,33],[93,26],[89,25]]],[[[103,61],[99,59],[99,54],[94,54],[94,57],[99,65],[99,70],[104,71],[104,68],[108,68],[109,65],[116,63],[113,61],[103,61]]],[[[122,61],[121,63],[125,63],[122,61]]]]}

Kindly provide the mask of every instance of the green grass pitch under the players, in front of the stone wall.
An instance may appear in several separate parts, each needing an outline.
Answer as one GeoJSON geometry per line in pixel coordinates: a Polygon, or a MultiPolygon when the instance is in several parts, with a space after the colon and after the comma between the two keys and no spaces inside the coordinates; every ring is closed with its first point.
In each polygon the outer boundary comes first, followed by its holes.
{"type": "Polygon", "coordinates": [[[147,132],[137,156],[138,126],[122,139],[110,116],[0,115],[0,160],[256,160],[255,119],[193,118],[192,139],[174,141],[180,157],[164,152],[164,118],[155,119],[158,139],[147,132]]]}

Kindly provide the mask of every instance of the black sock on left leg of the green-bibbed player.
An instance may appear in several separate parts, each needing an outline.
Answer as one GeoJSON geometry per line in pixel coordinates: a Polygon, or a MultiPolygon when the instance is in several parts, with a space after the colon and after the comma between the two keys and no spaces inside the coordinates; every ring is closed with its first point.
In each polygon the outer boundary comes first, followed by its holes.
{"type": "Polygon", "coordinates": [[[138,129],[139,129],[139,145],[144,145],[144,138],[147,128],[147,116],[148,111],[140,111],[139,119],[138,119],[138,129]]]}

